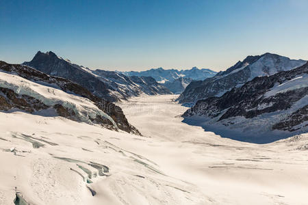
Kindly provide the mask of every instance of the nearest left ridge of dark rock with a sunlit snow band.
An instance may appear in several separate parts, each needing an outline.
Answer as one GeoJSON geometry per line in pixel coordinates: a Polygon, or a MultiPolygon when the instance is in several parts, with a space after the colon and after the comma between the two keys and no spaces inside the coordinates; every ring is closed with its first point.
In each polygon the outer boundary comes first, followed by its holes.
{"type": "Polygon", "coordinates": [[[140,135],[120,107],[94,96],[84,87],[51,77],[28,66],[0,61],[0,110],[60,115],[77,122],[99,124],[140,135]]]}

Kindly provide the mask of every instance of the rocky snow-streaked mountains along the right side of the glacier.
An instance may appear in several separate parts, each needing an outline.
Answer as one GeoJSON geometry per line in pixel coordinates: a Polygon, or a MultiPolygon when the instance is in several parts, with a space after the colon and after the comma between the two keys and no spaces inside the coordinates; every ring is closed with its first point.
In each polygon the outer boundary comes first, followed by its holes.
{"type": "Polygon", "coordinates": [[[185,92],[191,90],[192,98],[183,99],[205,99],[183,114],[188,124],[255,143],[308,132],[308,63],[303,60],[266,53],[193,83],[199,87],[189,85],[185,92]]]}

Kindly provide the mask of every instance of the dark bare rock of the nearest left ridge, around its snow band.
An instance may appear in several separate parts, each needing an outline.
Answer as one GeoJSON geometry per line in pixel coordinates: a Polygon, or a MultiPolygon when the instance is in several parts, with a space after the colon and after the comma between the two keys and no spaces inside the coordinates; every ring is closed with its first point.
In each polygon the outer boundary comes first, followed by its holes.
{"type": "MultiPolygon", "coordinates": [[[[51,77],[43,72],[35,70],[34,68],[30,68],[28,66],[18,65],[18,64],[7,64],[4,61],[0,61],[0,71],[9,72],[11,74],[16,74],[20,77],[23,77],[29,81],[34,81],[36,83],[46,83],[47,85],[53,85],[64,92],[69,94],[76,94],[78,96],[82,96],[84,98],[88,98],[94,105],[96,105],[99,109],[105,112],[107,115],[110,115],[118,128],[128,133],[135,133],[140,135],[139,131],[127,122],[127,118],[120,109],[120,107],[114,105],[114,103],[107,101],[99,96],[95,96],[92,92],[88,91],[86,88],[78,85],[77,83],[73,83],[68,79],[64,79],[62,77],[51,77]]],[[[18,96],[13,90],[0,87],[0,109],[4,111],[8,111],[12,108],[22,109],[29,113],[34,111],[40,111],[42,109],[50,108],[47,105],[44,105],[43,102],[32,98],[31,96],[18,96]]],[[[57,111],[57,114],[64,117],[69,118],[70,120],[78,120],[75,118],[75,114],[73,111],[62,107],[62,105],[55,105],[53,108],[57,111]]],[[[103,126],[110,127],[112,122],[105,118],[101,119],[92,119],[93,123],[102,124],[103,126]]]]}

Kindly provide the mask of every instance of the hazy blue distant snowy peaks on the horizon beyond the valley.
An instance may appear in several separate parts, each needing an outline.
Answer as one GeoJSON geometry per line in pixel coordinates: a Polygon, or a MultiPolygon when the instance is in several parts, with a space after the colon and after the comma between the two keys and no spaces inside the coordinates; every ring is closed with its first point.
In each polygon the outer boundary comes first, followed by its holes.
{"type": "Polygon", "coordinates": [[[127,76],[149,76],[153,77],[159,83],[166,83],[168,81],[175,81],[175,79],[178,79],[180,77],[190,78],[194,81],[204,80],[206,78],[213,77],[217,72],[205,68],[198,69],[194,67],[190,70],[164,70],[163,68],[152,68],[151,70],[145,70],[140,72],[127,71],[120,73],[127,76]]]}

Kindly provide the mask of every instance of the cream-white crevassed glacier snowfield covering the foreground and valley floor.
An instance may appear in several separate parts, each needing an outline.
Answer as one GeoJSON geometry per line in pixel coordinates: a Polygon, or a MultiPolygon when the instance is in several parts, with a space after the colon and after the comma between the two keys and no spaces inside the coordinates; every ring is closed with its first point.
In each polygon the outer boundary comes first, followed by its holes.
{"type": "Polygon", "coordinates": [[[121,104],[146,137],[0,112],[0,204],[307,204],[307,134],[262,145],[222,138],[175,118],[187,109],[175,97],[121,104]]]}

